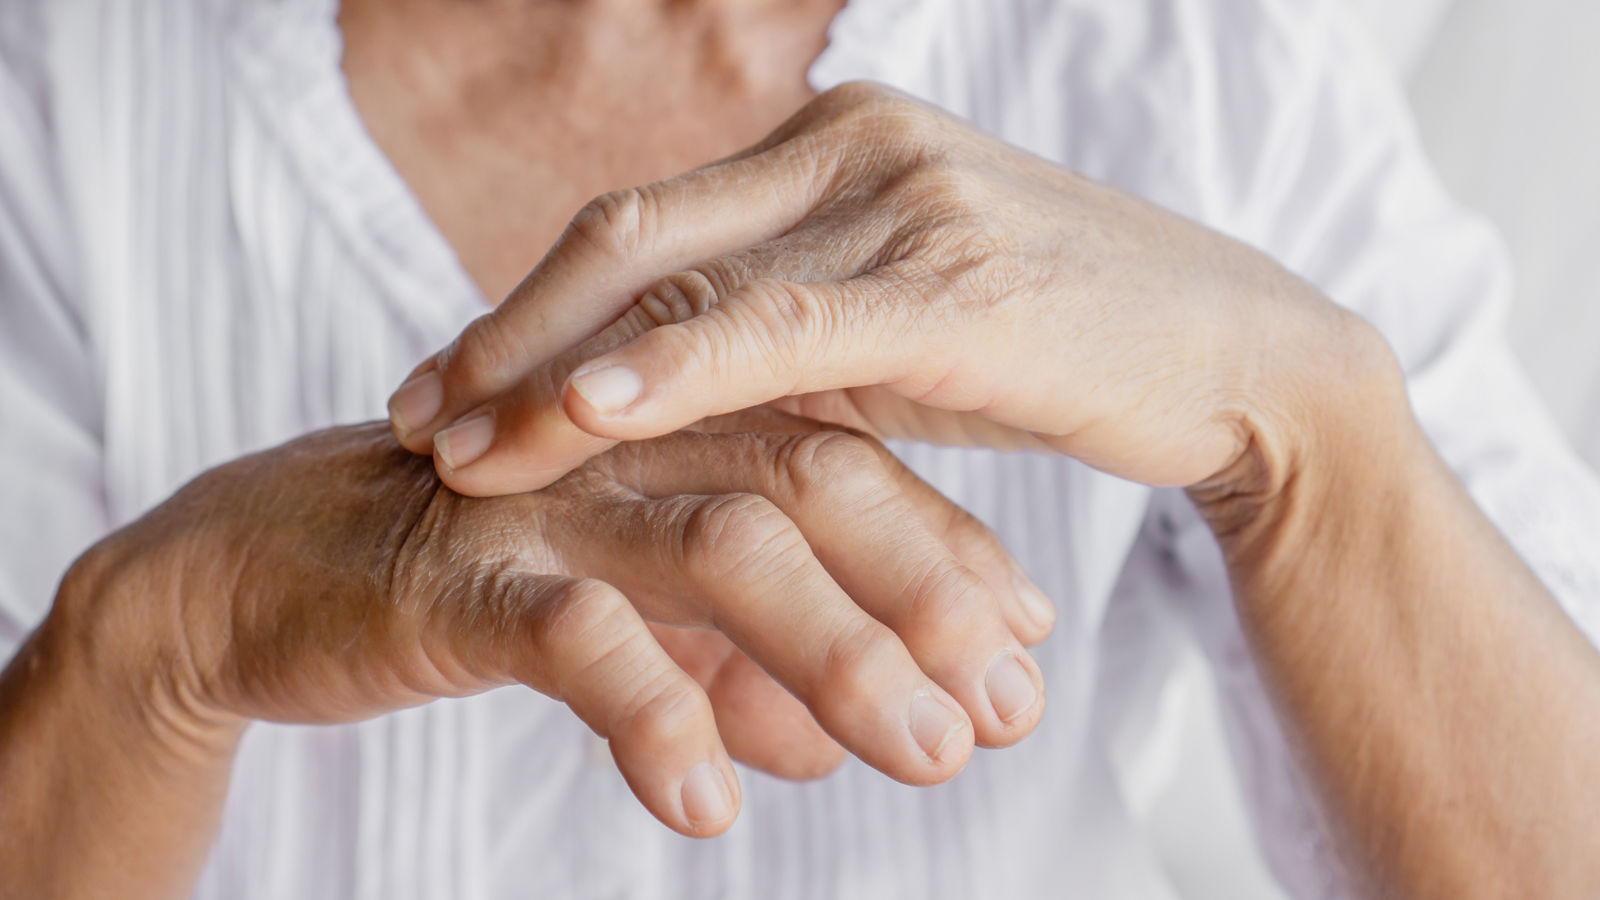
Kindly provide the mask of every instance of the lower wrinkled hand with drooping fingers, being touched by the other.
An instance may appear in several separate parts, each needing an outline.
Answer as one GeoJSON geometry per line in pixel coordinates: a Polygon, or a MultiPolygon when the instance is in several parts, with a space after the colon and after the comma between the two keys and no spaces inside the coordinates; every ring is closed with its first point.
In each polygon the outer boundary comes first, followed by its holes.
{"type": "Polygon", "coordinates": [[[1042,639],[1048,612],[1021,605],[1037,589],[1013,586],[992,533],[853,434],[781,413],[706,428],[496,500],[442,488],[382,426],[315,434],[202,476],[99,544],[64,591],[86,601],[62,615],[106,647],[139,644],[122,681],[163,685],[154,708],[208,727],[347,722],[522,682],[610,738],[640,801],[698,836],[738,809],[723,738],[808,773],[837,753],[814,716],[869,764],[931,783],[974,737],[1034,729],[1042,681],[1014,634],[1042,639]],[[130,641],[130,623],[158,633],[130,641]],[[680,631],[704,628],[742,653],[680,631]]]}

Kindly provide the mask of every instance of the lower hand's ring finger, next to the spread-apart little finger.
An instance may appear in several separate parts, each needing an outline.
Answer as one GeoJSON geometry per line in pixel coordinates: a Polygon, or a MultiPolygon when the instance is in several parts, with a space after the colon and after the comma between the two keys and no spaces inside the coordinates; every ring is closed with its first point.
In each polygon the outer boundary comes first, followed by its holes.
{"type": "Polygon", "coordinates": [[[962,706],[765,498],[640,498],[590,508],[581,532],[562,549],[568,572],[616,585],[648,620],[720,629],[869,765],[930,785],[971,756],[962,706]]]}

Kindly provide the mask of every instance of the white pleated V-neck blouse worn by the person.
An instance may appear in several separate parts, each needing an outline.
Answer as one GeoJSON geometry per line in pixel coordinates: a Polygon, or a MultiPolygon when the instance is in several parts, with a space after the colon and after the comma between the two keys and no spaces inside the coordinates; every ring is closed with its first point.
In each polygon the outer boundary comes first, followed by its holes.
{"type": "MultiPolygon", "coordinates": [[[[336,0],[0,6],[0,658],[72,557],[214,463],[389,391],[485,298],[363,130],[336,0]]],[[[1330,0],[854,0],[811,69],[877,78],[1238,235],[1371,322],[1418,415],[1600,636],[1600,487],[1501,343],[1494,234],[1445,195],[1330,0]]],[[[530,258],[530,264],[533,258],[530,258]]],[[[1341,895],[1181,493],[1070,460],[899,447],[1059,604],[1037,733],[949,785],[741,770],[669,833],[522,689],[344,727],[258,724],[197,897],[1173,897],[1114,772],[1197,642],[1262,854],[1341,895]]],[[[203,586],[195,586],[203,589],[203,586]]],[[[3,836],[0,836],[3,842],[3,836]]]]}

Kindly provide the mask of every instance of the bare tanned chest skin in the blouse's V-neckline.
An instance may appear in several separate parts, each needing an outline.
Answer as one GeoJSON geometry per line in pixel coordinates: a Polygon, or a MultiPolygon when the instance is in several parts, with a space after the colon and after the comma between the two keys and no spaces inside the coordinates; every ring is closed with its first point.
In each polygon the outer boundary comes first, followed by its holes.
{"type": "Polygon", "coordinates": [[[811,99],[842,0],[346,0],[368,131],[498,301],[597,194],[758,141],[811,99]]]}

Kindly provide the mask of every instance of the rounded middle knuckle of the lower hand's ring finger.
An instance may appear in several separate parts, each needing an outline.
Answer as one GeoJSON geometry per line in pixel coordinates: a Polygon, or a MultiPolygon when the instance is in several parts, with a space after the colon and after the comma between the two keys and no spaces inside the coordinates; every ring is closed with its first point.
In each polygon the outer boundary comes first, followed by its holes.
{"type": "Polygon", "coordinates": [[[805,538],[770,500],[730,493],[693,508],[683,524],[683,562],[709,578],[792,559],[805,538]]]}

